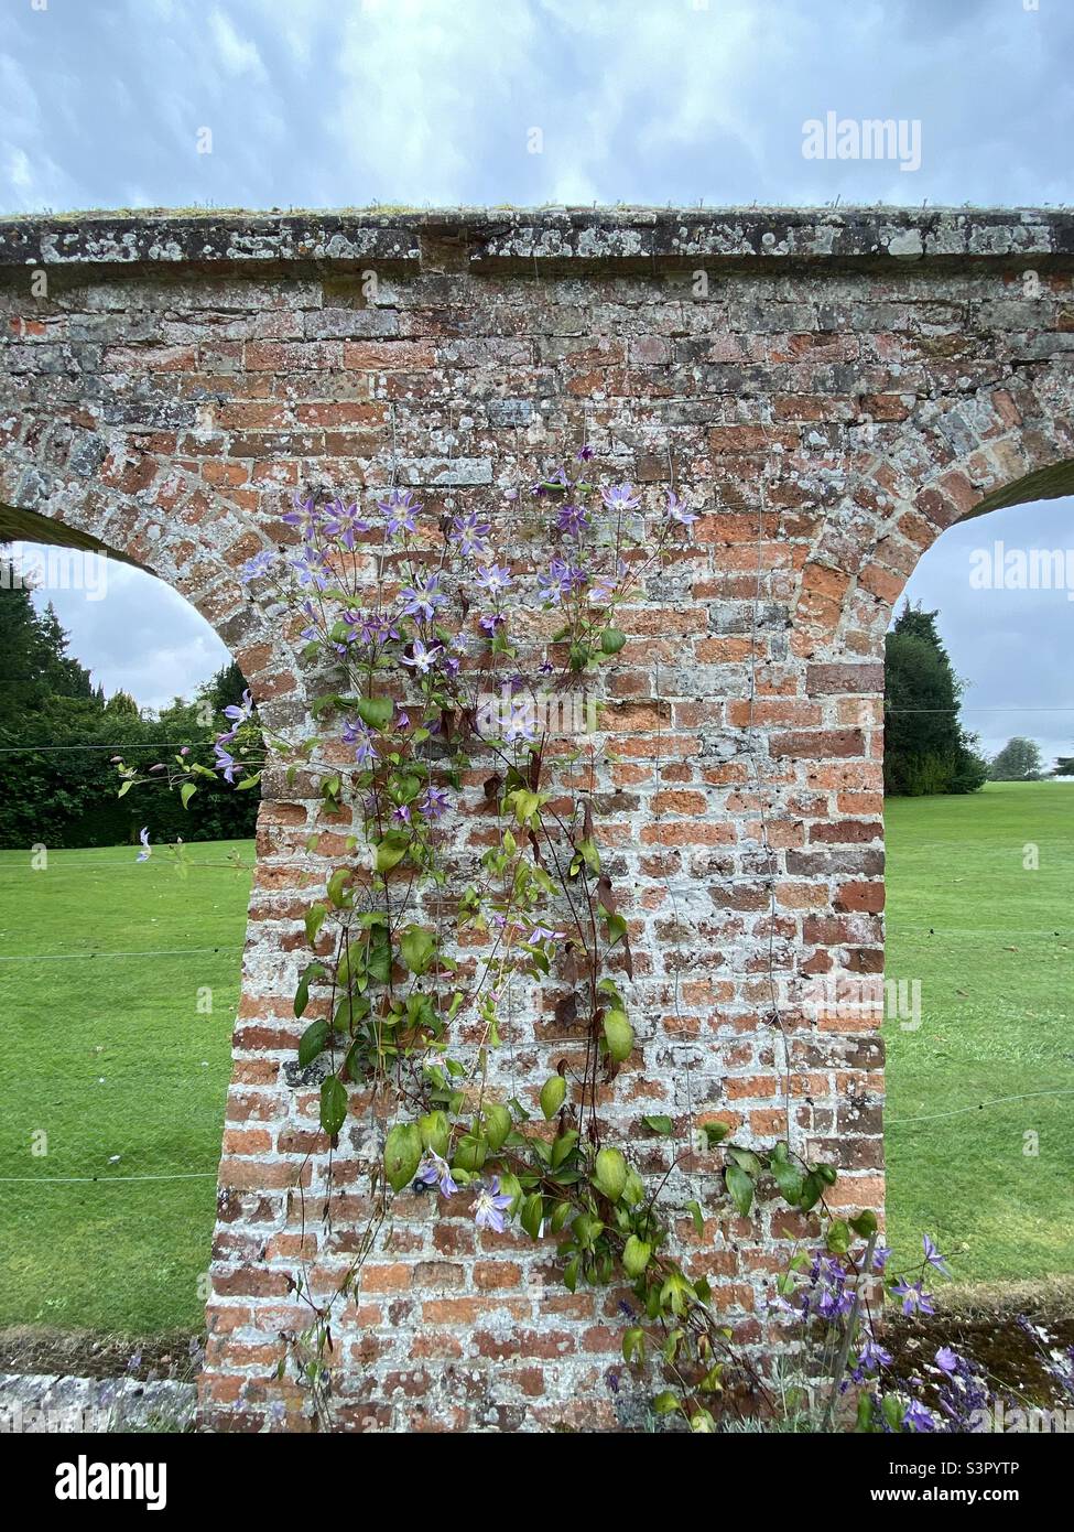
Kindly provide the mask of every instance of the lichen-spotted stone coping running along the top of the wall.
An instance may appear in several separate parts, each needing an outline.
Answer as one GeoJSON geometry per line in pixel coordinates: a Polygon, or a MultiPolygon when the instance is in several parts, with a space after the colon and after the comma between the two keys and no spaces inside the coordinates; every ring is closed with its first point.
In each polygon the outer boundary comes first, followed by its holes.
{"type": "Polygon", "coordinates": [[[0,268],[1074,264],[1063,208],[144,210],[0,218],[0,268]]]}

